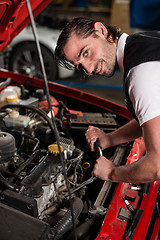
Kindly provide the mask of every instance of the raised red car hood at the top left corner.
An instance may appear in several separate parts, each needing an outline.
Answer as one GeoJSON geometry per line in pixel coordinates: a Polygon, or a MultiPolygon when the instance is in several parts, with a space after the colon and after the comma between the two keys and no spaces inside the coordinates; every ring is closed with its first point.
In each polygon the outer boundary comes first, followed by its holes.
{"type": "MultiPolygon", "coordinates": [[[[30,0],[33,16],[36,17],[50,2],[51,0],[30,0]]],[[[29,23],[26,0],[0,0],[0,51],[29,23]]]]}

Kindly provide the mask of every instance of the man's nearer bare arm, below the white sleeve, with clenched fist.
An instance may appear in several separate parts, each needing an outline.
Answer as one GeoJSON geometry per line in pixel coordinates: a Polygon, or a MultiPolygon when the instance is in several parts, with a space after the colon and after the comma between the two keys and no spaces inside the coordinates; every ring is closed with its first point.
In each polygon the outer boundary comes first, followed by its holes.
{"type": "Polygon", "coordinates": [[[115,166],[104,157],[97,159],[95,176],[113,182],[142,183],[160,180],[160,116],[142,125],[146,154],[138,161],[115,166]]]}

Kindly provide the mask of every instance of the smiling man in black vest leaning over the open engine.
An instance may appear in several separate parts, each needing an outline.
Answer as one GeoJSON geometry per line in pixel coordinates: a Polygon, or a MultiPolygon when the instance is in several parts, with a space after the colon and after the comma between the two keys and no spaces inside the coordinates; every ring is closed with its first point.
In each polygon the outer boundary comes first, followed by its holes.
{"type": "Polygon", "coordinates": [[[72,65],[89,75],[111,77],[117,68],[124,75],[125,102],[134,119],[107,134],[90,126],[86,139],[93,151],[97,138],[105,149],[143,136],[146,154],[127,166],[115,166],[101,156],[93,174],[114,182],[160,180],[160,33],[128,36],[101,22],[75,18],[59,36],[55,56],[65,67],[72,65]]]}

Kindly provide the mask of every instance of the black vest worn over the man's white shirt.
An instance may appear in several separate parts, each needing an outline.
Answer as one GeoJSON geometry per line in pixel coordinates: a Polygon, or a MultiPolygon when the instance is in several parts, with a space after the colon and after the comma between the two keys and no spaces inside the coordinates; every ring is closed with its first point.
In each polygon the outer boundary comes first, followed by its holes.
{"type": "Polygon", "coordinates": [[[128,94],[129,76],[127,75],[131,68],[141,63],[149,61],[160,61],[160,31],[136,33],[128,36],[124,48],[124,60],[123,60],[124,99],[126,107],[129,109],[129,111],[137,121],[138,119],[137,116],[135,115],[135,111],[128,94]]]}

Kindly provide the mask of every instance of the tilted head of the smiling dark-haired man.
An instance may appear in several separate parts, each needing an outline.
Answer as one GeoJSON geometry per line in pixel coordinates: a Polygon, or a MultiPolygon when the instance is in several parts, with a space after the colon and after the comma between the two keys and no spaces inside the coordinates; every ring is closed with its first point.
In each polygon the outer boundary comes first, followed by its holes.
{"type": "Polygon", "coordinates": [[[117,66],[116,49],[120,31],[102,23],[76,18],[63,29],[55,55],[60,64],[68,62],[87,74],[110,77],[117,66]]]}

